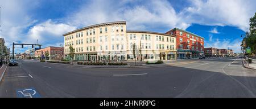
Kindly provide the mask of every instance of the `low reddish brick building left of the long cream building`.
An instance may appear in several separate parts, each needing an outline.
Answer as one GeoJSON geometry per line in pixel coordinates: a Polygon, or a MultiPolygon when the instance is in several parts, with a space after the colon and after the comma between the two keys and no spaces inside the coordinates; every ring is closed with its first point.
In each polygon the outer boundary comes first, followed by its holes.
{"type": "Polygon", "coordinates": [[[44,49],[35,51],[35,58],[42,59],[46,57],[46,53],[49,53],[47,60],[62,60],[64,59],[64,47],[49,46],[44,49]]]}

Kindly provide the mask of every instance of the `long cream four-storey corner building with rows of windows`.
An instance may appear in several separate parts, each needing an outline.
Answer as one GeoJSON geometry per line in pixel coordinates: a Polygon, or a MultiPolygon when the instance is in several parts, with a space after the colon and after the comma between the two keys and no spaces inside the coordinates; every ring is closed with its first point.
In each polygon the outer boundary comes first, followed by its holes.
{"type": "Polygon", "coordinates": [[[63,36],[66,59],[70,59],[70,45],[75,48],[74,59],[80,61],[176,59],[176,36],[126,30],[126,21],[91,25],[65,33],[63,36]]]}

